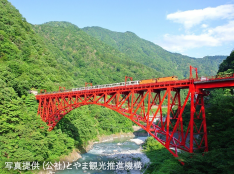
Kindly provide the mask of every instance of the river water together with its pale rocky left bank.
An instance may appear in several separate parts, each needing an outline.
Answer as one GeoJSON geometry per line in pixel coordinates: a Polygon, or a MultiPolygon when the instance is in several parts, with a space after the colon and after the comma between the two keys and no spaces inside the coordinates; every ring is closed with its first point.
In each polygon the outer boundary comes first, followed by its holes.
{"type": "MultiPolygon", "coordinates": [[[[142,131],[139,127],[134,127],[135,132],[142,131]]],[[[134,133],[119,133],[109,136],[98,137],[99,141],[90,141],[89,146],[83,148],[81,153],[78,149],[74,149],[73,152],[67,156],[61,157],[60,161],[66,163],[88,163],[96,161],[100,162],[114,161],[117,167],[118,162],[123,164],[132,164],[129,168],[117,169],[112,171],[107,170],[82,170],[82,166],[79,170],[62,170],[55,171],[56,174],[77,174],[77,173],[132,173],[140,174],[144,171],[145,167],[149,164],[149,159],[142,152],[141,145],[144,143],[147,137],[135,137],[134,133]],[[87,152],[87,153],[86,153],[87,152]],[[138,164],[138,166],[136,166],[138,164]],[[140,165],[140,166],[139,166],[140,165]]],[[[74,167],[73,167],[74,168],[74,167]]],[[[39,174],[46,174],[49,171],[40,171],[39,174]]]]}

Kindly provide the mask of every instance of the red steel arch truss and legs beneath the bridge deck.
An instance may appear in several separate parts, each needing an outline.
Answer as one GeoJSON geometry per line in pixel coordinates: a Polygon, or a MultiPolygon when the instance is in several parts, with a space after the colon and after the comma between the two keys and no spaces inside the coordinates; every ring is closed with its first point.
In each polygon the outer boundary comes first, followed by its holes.
{"type": "Polygon", "coordinates": [[[208,151],[204,107],[204,96],[207,93],[196,90],[191,82],[185,100],[181,101],[181,90],[173,86],[149,86],[144,89],[43,95],[38,96],[38,114],[52,130],[73,109],[95,104],[110,108],[132,120],[176,157],[179,150],[190,153],[200,149],[208,151]],[[188,106],[189,114],[185,112],[188,106]],[[164,111],[163,114],[164,108],[167,112],[164,111]]]}

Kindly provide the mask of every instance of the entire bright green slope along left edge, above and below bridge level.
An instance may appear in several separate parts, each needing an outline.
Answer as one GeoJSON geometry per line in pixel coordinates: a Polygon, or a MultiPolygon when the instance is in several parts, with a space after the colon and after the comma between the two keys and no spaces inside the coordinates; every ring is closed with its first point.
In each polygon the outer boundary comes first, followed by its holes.
{"type": "Polygon", "coordinates": [[[31,173],[9,171],[5,162],[42,164],[72,151],[74,139],[65,133],[48,132],[37,115],[35,96],[28,94],[31,88],[57,90],[72,80],[19,11],[7,0],[0,0],[1,174],[31,173]]]}

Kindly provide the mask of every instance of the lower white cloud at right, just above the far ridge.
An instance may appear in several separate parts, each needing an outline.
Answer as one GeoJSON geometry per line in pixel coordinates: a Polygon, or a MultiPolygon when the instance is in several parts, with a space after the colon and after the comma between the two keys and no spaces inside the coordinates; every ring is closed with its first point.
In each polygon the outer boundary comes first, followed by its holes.
{"type": "Polygon", "coordinates": [[[228,24],[210,28],[199,35],[164,35],[164,42],[160,45],[174,52],[184,52],[185,50],[204,47],[221,46],[224,43],[234,42],[234,20],[228,24]]]}

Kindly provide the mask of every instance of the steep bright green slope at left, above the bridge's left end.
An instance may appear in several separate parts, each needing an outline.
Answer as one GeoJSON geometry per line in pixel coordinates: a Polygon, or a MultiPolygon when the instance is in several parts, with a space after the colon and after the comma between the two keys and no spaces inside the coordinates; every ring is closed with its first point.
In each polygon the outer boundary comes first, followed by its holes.
{"type": "Polygon", "coordinates": [[[19,11],[6,0],[0,2],[0,78],[4,83],[19,96],[31,88],[57,90],[59,85],[75,84],[19,11]]]}

